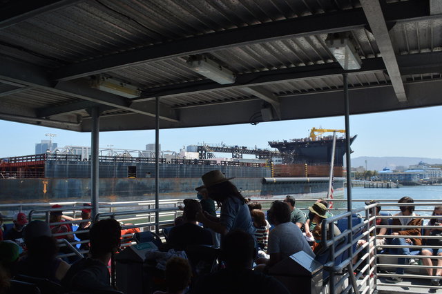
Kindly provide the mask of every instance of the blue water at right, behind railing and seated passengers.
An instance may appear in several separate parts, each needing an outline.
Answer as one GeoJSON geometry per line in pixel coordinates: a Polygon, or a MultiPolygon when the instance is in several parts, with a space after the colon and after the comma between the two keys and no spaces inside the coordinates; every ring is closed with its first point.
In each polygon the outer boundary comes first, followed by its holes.
{"type": "MultiPolygon", "coordinates": [[[[347,190],[345,190],[347,195],[347,190]]],[[[442,186],[401,186],[401,188],[352,188],[352,199],[391,199],[392,202],[398,201],[401,197],[412,197],[414,201],[419,199],[431,199],[434,202],[441,202],[442,205],[442,186]]],[[[354,202],[353,208],[364,206],[363,202],[354,202]]],[[[396,207],[397,208],[397,207],[396,207]]],[[[388,207],[383,208],[387,210],[388,207]]],[[[433,210],[434,206],[416,206],[416,210],[433,210]]],[[[428,212],[419,212],[421,215],[429,215],[428,212]]]]}

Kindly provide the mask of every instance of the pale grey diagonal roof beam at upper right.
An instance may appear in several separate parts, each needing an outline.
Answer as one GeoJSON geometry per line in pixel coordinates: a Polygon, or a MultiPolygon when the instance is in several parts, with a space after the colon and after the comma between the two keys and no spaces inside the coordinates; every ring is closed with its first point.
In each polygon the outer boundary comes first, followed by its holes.
{"type": "Polygon", "coordinates": [[[390,39],[388,33],[381,4],[378,0],[361,0],[361,5],[392,81],[396,98],[399,102],[406,102],[407,95],[405,95],[401,72],[399,71],[398,61],[394,54],[392,39],[390,39]]]}

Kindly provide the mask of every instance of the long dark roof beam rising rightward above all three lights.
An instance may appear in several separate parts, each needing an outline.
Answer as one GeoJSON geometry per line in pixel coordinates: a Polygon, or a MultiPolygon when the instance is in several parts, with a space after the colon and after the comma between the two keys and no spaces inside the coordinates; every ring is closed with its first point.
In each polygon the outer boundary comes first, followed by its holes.
{"type": "MultiPolygon", "coordinates": [[[[422,17],[431,17],[427,1],[410,0],[390,3],[385,6],[385,19],[387,21],[406,21],[422,17]]],[[[367,19],[365,19],[365,14],[361,8],[273,21],[70,64],[55,70],[52,79],[66,81],[149,61],[184,57],[263,41],[343,32],[363,28],[366,25],[367,19]]]]}

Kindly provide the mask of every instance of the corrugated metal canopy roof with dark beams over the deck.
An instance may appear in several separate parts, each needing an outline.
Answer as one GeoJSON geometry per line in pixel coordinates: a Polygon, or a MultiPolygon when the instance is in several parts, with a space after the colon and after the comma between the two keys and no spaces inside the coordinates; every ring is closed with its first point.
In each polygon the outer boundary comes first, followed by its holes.
{"type": "Polygon", "coordinates": [[[343,115],[344,70],[325,46],[350,32],[350,112],[442,105],[442,5],[433,0],[0,1],[0,119],[90,131],[343,115]],[[217,84],[191,55],[236,75],[217,84]],[[90,87],[101,74],[142,90],[90,87]]]}

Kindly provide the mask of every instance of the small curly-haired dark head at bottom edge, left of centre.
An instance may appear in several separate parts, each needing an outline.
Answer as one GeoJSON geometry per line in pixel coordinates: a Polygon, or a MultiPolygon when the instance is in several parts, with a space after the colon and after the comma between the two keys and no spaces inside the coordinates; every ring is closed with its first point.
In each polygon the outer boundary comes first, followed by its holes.
{"type": "Polygon", "coordinates": [[[191,282],[192,269],[186,259],[172,257],[166,262],[165,276],[169,292],[183,291],[191,282]]]}

